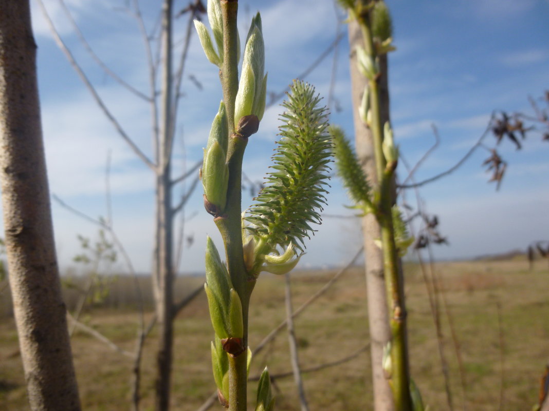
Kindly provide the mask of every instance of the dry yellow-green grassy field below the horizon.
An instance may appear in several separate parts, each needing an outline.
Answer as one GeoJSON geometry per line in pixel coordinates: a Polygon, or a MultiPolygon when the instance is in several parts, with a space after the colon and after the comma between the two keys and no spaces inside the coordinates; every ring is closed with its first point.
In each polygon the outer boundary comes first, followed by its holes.
{"type": "MultiPolygon", "coordinates": [[[[456,410],[529,410],[537,401],[539,380],[549,360],[549,272],[539,262],[533,272],[525,261],[447,262],[435,265],[451,312],[463,358],[465,398],[449,321],[442,312],[444,352],[456,410]],[[501,320],[501,327],[500,327],[501,320]],[[465,404],[463,401],[465,400],[465,404]],[[465,407],[464,407],[465,406],[465,407]]],[[[294,307],[321,288],[335,271],[293,276],[294,307]]],[[[431,410],[449,409],[436,332],[423,277],[417,265],[405,267],[412,375],[431,410]]],[[[200,278],[180,279],[179,289],[192,289],[200,278]]],[[[251,302],[250,346],[284,318],[284,280],[263,274],[251,302]]],[[[351,269],[295,321],[304,368],[336,361],[368,343],[363,270],[351,269]]],[[[150,316],[150,314],[148,315],[150,316]]],[[[124,349],[135,345],[138,317],[126,306],[96,308],[83,320],[124,349]]],[[[173,410],[195,410],[214,391],[210,366],[213,336],[205,295],[177,317],[173,364],[173,410]]],[[[154,332],[143,361],[143,409],[151,409],[154,378],[154,332]]],[[[100,341],[76,332],[72,346],[83,409],[130,408],[131,359],[100,341]]],[[[282,332],[268,350],[254,358],[250,376],[268,365],[272,374],[290,370],[287,335],[282,332]]],[[[362,351],[352,361],[304,375],[312,410],[371,409],[370,361],[362,351]]],[[[255,383],[251,383],[255,387],[255,383]]],[[[254,388],[250,389],[253,409],[254,388]]],[[[276,381],[278,410],[299,410],[292,378],[276,381]]],[[[0,411],[27,409],[24,377],[13,319],[0,322],[0,411]]],[[[220,409],[215,404],[213,409],[220,409]]]]}

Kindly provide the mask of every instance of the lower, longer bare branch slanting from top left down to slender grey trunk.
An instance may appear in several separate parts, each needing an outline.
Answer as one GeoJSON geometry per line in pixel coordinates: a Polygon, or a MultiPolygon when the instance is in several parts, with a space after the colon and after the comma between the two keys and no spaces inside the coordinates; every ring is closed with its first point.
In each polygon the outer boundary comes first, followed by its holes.
{"type": "Polygon", "coordinates": [[[141,159],[141,161],[143,161],[146,165],[148,165],[149,168],[155,170],[156,169],[155,164],[152,161],[150,161],[150,159],[141,151],[141,149],[139,149],[139,147],[135,144],[135,142],[133,142],[130,136],[126,134],[126,132],[122,128],[122,125],[116,120],[116,118],[113,116],[113,113],[111,113],[110,110],[107,108],[107,106],[105,105],[103,100],[100,98],[99,94],[97,93],[97,90],[95,89],[95,87],[93,87],[92,83],[89,81],[88,77],[83,72],[82,67],[80,67],[80,65],[76,62],[76,59],[74,58],[70,50],[66,47],[66,44],[63,42],[63,39],[61,39],[61,37],[59,36],[59,33],[55,28],[52,19],[49,17],[49,14],[42,0],[38,0],[38,4],[42,9],[44,18],[48,22],[49,28],[52,32],[55,42],[57,43],[61,51],[65,54],[66,58],[69,60],[70,65],[77,72],[82,82],[86,85],[86,88],[92,94],[93,99],[96,100],[97,105],[103,111],[103,114],[105,115],[105,117],[107,117],[108,120],[111,122],[111,124],[113,124],[114,128],[116,129],[116,132],[121,136],[121,138],[124,141],[126,141],[126,143],[130,146],[133,152],[135,152],[136,155],[141,159]]]}

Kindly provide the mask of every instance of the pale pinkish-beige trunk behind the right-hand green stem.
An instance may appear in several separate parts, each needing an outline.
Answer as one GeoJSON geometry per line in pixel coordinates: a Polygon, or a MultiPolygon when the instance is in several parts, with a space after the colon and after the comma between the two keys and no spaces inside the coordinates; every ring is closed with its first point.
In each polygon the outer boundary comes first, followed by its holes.
{"type": "MultiPolygon", "coordinates": [[[[355,123],[356,153],[362,167],[368,176],[372,187],[377,185],[376,161],[372,133],[362,122],[357,107],[360,106],[362,93],[367,82],[358,71],[355,49],[362,44],[362,35],[356,21],[349,23],[350,71],[352,84],[352,106],[355,123]]],[[[389,119],[389,93],[387,83],[386,56],[380,58],[382,78],[379,82],[380,110],[382,122],[389,119]]],[[[374,243],[374,239],[381,238],[379,224],[373,214],[362,218],[362,233],[366,260],[366,285],[368,296],[368,319],[372,357],[372,381],[374,391],[374,411],[392,411],[393,393],[383,374],[382,358],[383,347],[390,340],[388,306],[386,302],[385,278],[383,274],[383,253],[374,243]]]]}

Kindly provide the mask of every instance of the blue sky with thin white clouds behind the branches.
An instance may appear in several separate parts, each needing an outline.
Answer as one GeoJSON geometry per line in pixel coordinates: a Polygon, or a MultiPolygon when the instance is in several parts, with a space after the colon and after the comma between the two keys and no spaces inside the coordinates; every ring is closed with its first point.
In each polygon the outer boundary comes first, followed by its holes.
{"type": "MultiPolygon", "coordinates": [[[[141,149],[151,155],[148,105],[136,99],[101,72],[77,41],[57,0],[45,1],[64,40],[92,79],[110,110],[141,149]]],[[[124,0],[67,0],[76,21],[96,53],[136,88],[148,90],[148,73],[135,20],[123,8],[124,0]]],[[[152,27],[158,2],[142,2],[152,27]],[[153,4],[154,3],[154,4],[153,4]]],[[[240,0],[240,32],[248,30],[251,15],[260,10],[266,43],[268,91],[280,92],[303,72],[333,41],[338,15],[331,0],[240,0]]],[[[186,2],[177,2],[184,7],[186,2]]],[[[395,139],[410,163],[416,162],[433,142],[431,124],[441,136],[439,149],[422,165],[421,180],[437,174],[460,159],[486,128],[494,109],[531,112],[528,95],[540,96],[549,88],[549,1],[458,0],[433,2],[389,0],[394,20],[390,55],[391,116],[395,139]]],[[[178,7],[179,7],[178,6],[178,7]]],[[[181,39],[186,18],[176,23],[181,39]]],[[[112,156],[111,190],[117,235],[139,271],[148,271],[152,255],[153,176],[128,149],[105,120],[57,45],[33,3],[33,25],[38,43],[44,140],[51,192],[82,212],[105,215],[104,168],[112,156]]],[[[352,107],[347,38],[339,43],[334,84],[332,121],[352,136],[352,107]]],[[[327,96],[333,54],[305,79],[327,96]]],[[[216,67],[205,58],[196,36],[192,39],[184,98],[178,113],[175,173],[201,156],[209,127],[221,99],[216,67]],[[188,77],[203,86],[199,90],[188,77]]],[[[266,172],[276,140],[278,105],[270,107],[260,132],[248,144],[244,172],[259,180],[266,172]]],[[[493,138],[486,140],[493,145],[493,138]]],[[[451,176],[422,187],[430,213],[439,215],[441,232],[450,246],[438,247],[438,258],[461,258],[525,248],[547,239],[549,219],[549,144],[531,135],[524,149],[507,142],[498,147],[509,163],[501,190],[488,184],[480,167],[488,152],[479,150],[451,176]]],[[[402,175],[404,169],[400,169],[402,175]]],[[[179,193],[176,191],[175,196],[179,193]]],[[[408,193],[413,205],[413,192],[408,193]]],[[[332,179],[327,214],[351,215],[337,179],[332,179]]],[[[243,207],[251,204],[244,193],[243,207]]],[[[53,203],[55,236],[62,267],[79,252],[78,234],[95,237],[97,229],[53,203]]],[[[186,210],[186,235],[194,237],[184,249],[183,271],[200,271],[205,235],[217,237],[216,227],[201,205],[200,190],[186,210]]],[[[360,246],[358,221],[324,219],[307,247],[301,266],[343,264],[360,246]]]]}

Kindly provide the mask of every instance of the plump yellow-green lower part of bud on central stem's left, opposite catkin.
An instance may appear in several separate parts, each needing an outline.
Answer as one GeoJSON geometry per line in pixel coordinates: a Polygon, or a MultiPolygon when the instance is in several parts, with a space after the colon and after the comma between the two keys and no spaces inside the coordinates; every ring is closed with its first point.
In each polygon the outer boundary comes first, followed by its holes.
{"type": "Polygon", "coordinates": [[[226,153],[219,141],[214,140],[210,148],[204,150],[202,165],[202,185],[204,195],[210,204],[217,207],[216,214],[221,214],[227,202],[227,186],[229,168],[226,163],[226,153]]]}

